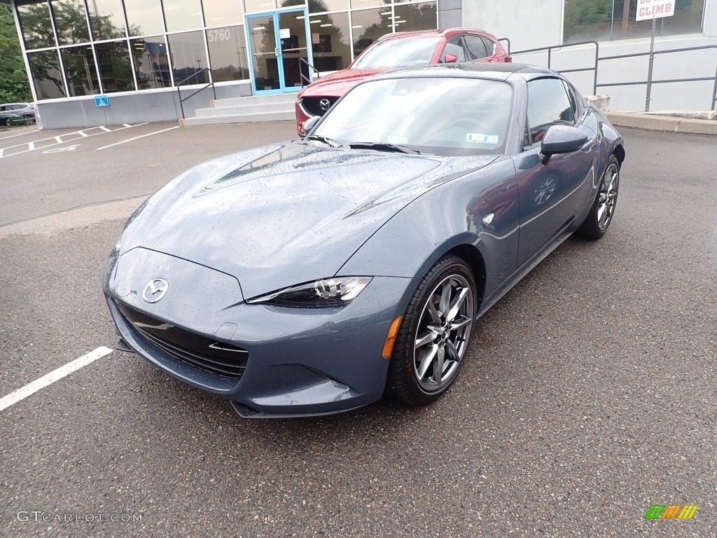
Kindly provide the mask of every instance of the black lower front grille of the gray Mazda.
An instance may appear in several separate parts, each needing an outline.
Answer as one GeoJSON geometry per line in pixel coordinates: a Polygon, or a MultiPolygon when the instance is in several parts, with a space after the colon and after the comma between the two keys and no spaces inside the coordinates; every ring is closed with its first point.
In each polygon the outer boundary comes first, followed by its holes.
{"type": "Polygon", "coordinates": [[[119,301],[115,304],[143,339],[170,357],[228,379],[239,379],[244,374],[249,351],[185,331],[119,301]]]}

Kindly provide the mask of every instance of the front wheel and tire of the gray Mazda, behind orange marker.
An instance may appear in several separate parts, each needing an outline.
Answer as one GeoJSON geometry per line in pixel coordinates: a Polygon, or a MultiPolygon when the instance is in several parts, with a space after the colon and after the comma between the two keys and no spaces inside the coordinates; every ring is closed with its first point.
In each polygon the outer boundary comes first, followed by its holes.
{"type": "Polygon", "coordinates": [[[444,256],[411,298],[391,355],[386,395],[428,405],[448,390],[467,357],[475,309],[473,271],[457,256],[444,256]]]}

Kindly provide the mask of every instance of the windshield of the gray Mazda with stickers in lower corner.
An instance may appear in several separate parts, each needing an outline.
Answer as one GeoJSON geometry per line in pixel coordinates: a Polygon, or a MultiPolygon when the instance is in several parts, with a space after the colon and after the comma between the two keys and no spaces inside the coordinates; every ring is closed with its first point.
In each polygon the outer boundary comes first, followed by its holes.
{"type": "Polygon", "coordinates": [[[372,80],[347,93],[312,134],[345,146],[374,144],[383,151],[408,148],[441,156],[502,154],[512,102],[511,86],[494,80],[372,80]]]}

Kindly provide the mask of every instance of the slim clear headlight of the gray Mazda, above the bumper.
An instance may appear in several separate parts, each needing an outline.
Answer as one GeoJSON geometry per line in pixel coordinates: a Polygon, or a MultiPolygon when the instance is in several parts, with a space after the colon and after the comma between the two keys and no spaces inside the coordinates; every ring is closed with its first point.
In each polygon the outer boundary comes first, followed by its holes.
{"type": "Polygon", "coordinates": [[[247,299],[247,303],[264,303],[295,308],[326,308],[343,306],[353,300],[366,285],[370,276],[346,276],[322,278],[305,284],[295,285],[267,295],[247,299]]]}

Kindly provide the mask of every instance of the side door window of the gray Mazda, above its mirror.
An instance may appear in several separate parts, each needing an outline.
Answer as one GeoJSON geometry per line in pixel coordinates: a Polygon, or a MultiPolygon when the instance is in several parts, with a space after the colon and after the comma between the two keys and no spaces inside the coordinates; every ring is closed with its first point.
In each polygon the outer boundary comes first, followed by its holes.
{"type": "Polygon", "coordinates": [[[528,82],[531,143],[540,141],[550,126],[574,124],[575,115],[562,80],[540,78],[528,82]]]}

